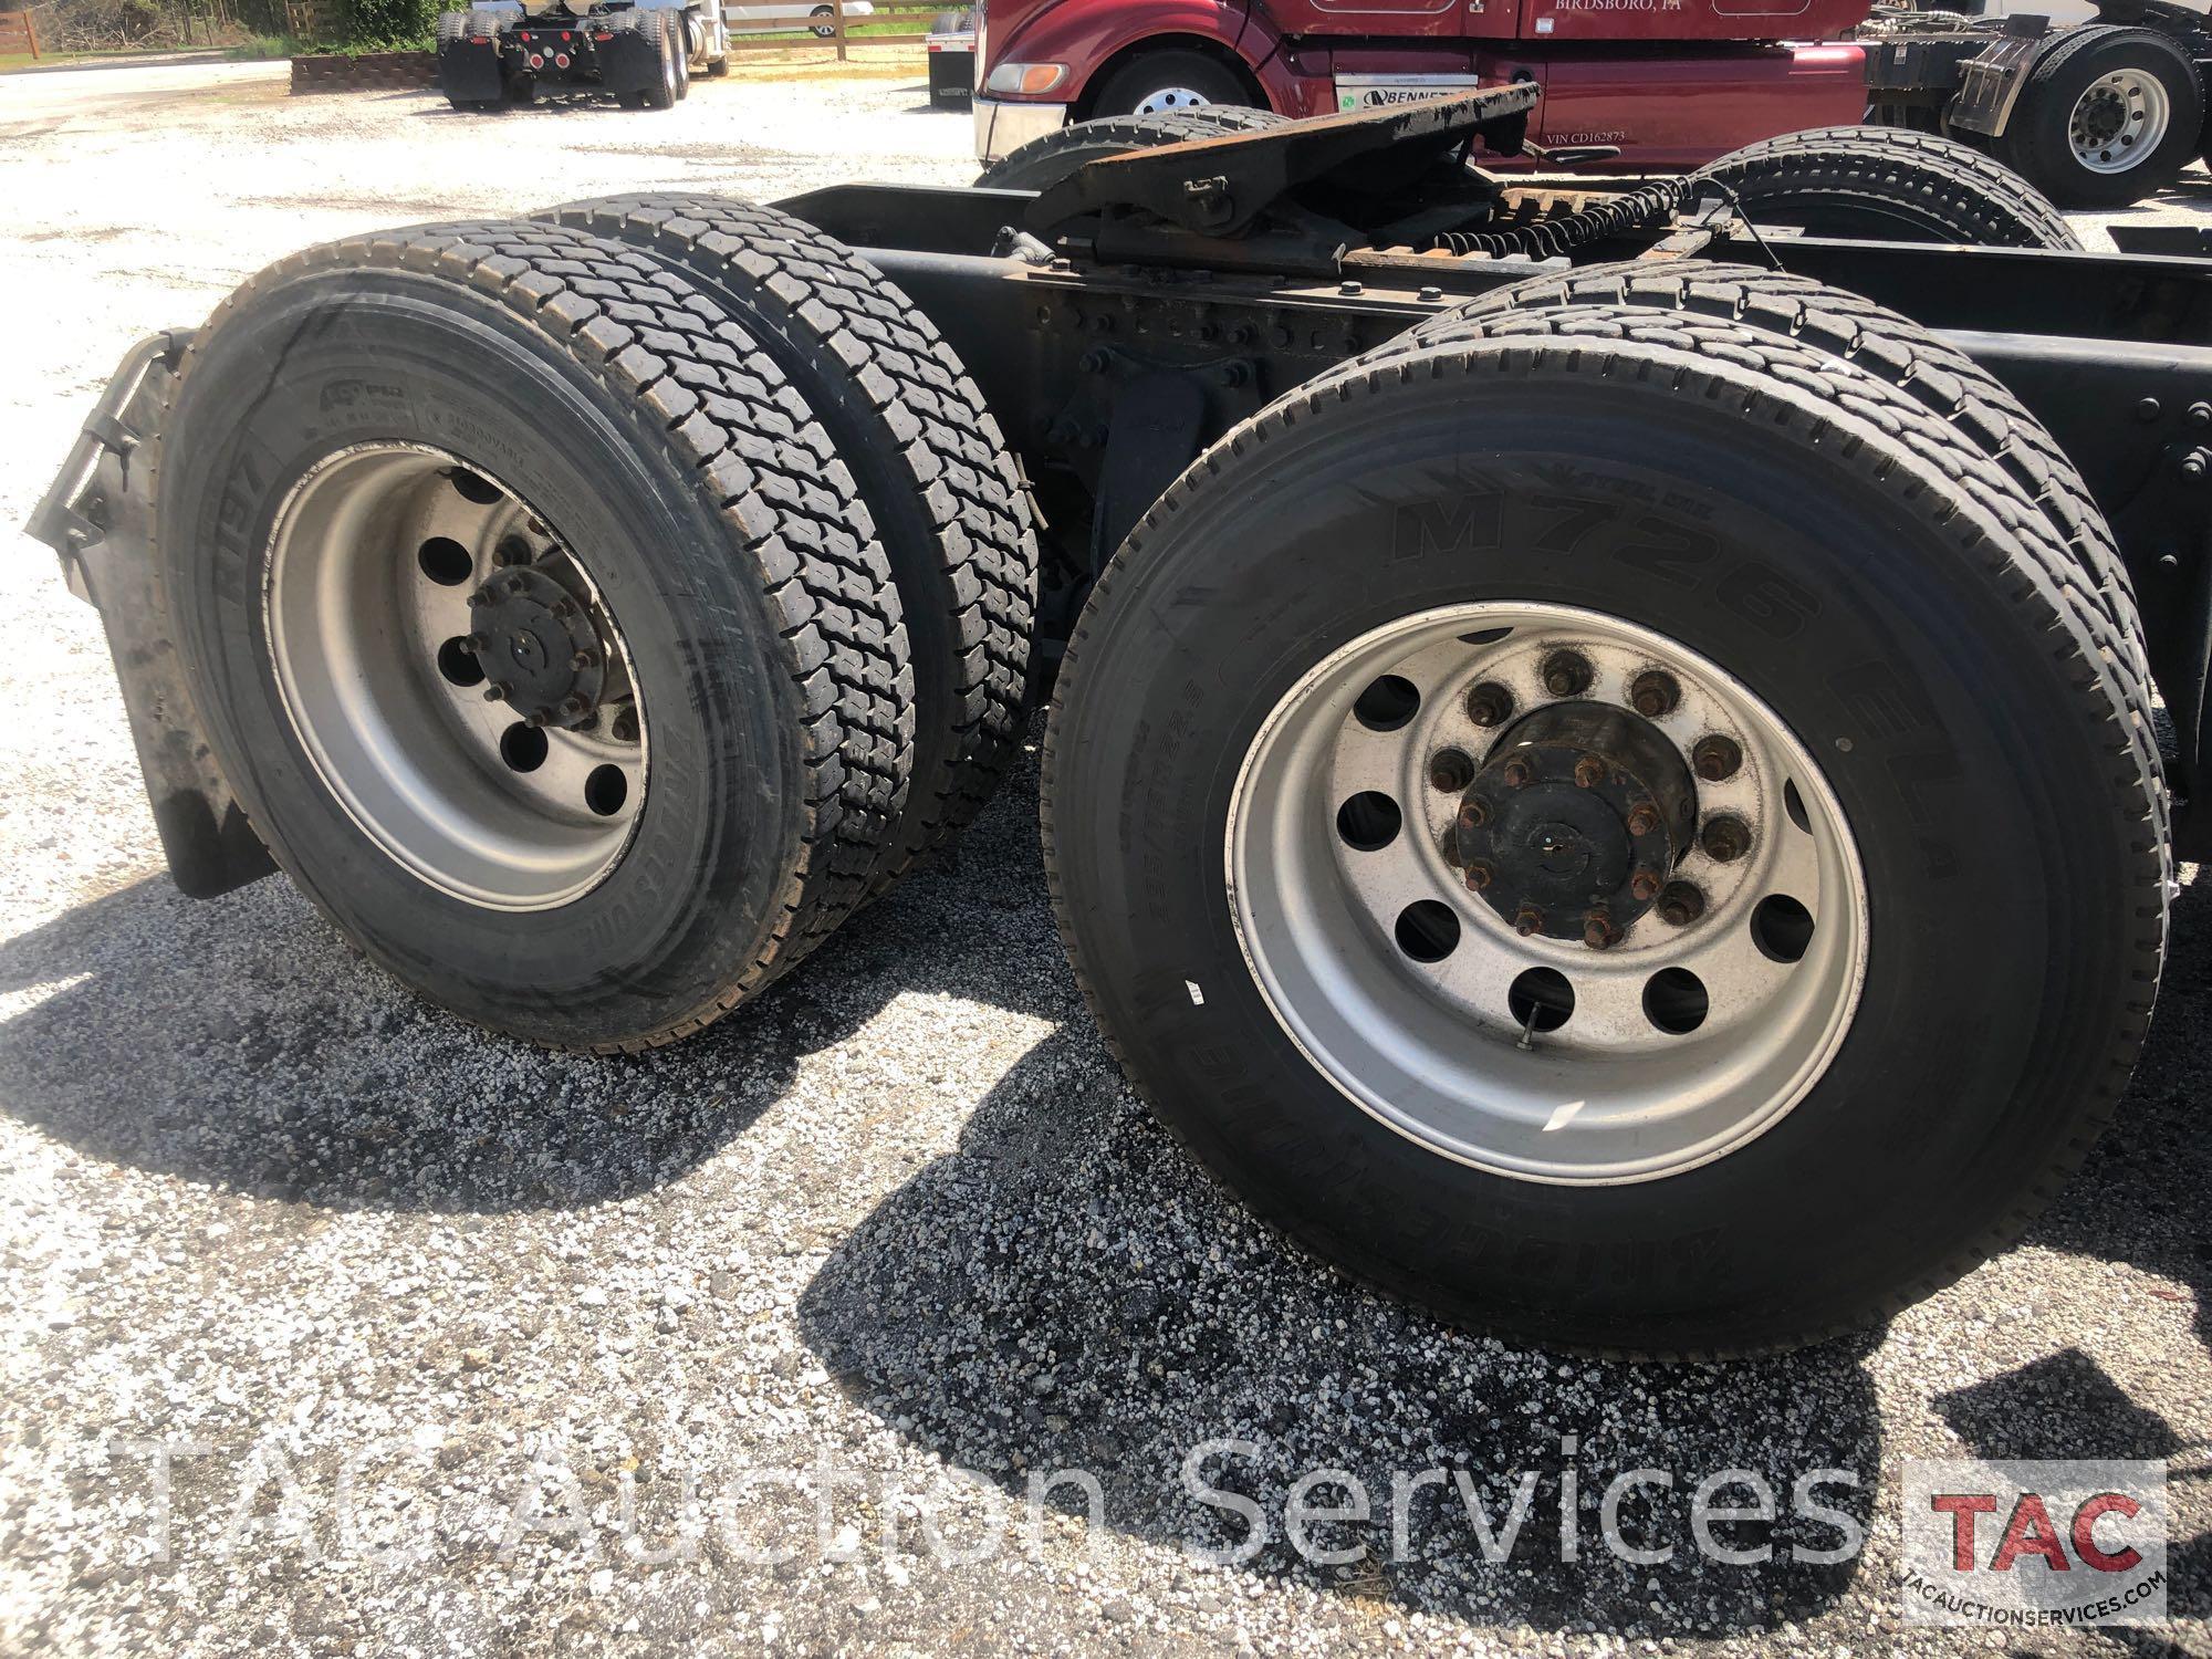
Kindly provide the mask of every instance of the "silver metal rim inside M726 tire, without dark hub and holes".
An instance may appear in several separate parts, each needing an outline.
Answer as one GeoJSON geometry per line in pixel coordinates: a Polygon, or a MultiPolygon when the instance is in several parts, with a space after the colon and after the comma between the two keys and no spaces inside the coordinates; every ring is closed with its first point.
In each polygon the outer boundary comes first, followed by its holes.
{"type": "Polygon", "coordinates": [[[1745,1146],[1827,1071],[1865,980],[1858,849],[1805,745],[1717,664],[1568,606],[1427,611],[1314,666],[1245,752],[1228,885],[1261,995],[1340,1093],[1442,1157],[1528,1181],[1650,1181],[1745,1146]],[[1670,675],[1679,706],[1652,726],[1683,752],[1714,734],[1741,752],[1730,779],[1697,781],[1697,816],[1699,834],[1736,818],[1750,849],[1728,863],[1688,852],[1668,874],[1701,889],[1703,914],[1686,925],[1646,914],[1608,949],[1522,938],[1471,891],[1449,852],[1460,796],[1431,779],[1433,757],[1482,761],[1511,730],[1475,723],[1478,686],[1504,686],[1515,721],[1557,703],[1542,672],[1559,650],[1593,670],[1584,701],[1619,703],[1637,675],[1670,675]],[[1411,686],[1418,708],[1376,730],[1356,710],[1385,677],[1411,686]],[[1369,794],[1398,803],[1400,827],[1380,847],[1347,845],[1343,814],[1369,794]],[[1809,914],[1794,960],[1772,953],[1776,894],[1809,914]],[[1442,960],[1407,956],[1398,929],[1416,905],[1458,922],[1442,960]],[[1650,1013],[1663,969],[1708,987],[1692,1031],[1650,1013]],[[1544,1029],[1542,1002],[1515,998],[1533,971],[1573,987],[1564,1024],[1544,1029]]]}

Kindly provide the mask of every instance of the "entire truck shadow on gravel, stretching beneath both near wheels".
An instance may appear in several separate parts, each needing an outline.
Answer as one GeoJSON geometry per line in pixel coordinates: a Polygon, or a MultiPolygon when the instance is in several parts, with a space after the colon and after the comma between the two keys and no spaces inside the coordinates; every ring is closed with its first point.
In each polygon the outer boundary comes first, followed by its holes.
{"type": "MultiPolygon", "coordinates": [[[[38,998],[0,1024],[0,1108],[86,1157],[263,1199],[573,1208],[714,1157],[810,1055],[894,995],[1009,1009],[1057,1031],[982,1099],[956,1152],[834,1245],[801,1298],[805,1340],[865,1411],[1018,1500],[1031,1471],[1086,1469],[1104,1524],[1164,1551],[1250,1535],[1183,1482],[1199,1442],[1250,1442],[1199,1473],[1256,1502],[1267,1542],[1225,1575],[1197,1575],[1201,1604],[1276,1582],[1347,1619],[1427,1608],[1652,1637],[1787,1630],[1845,1597],[1887,1617],[1893,1590],[1865,1559],[1790,1559],[1838,1544],[1827,1520],[1790,1513],[1798,1478],[1854,1471],[1856,1491],[1827,1484],[1816,1502],[1856,1526],[1874,1515],[1885,1433],[1865,1360],[1878,1334],[1736,1365],[1595,1363],[1347,1285],[1217,1190],[1124,1086],[1060,958],[1033,823],[1024,768],[953,867],[849,922],[701,1040],[604,1062],[491,1040],[409,1000],[283,880],[210,905],[142,880],[0,945],[0,991],[38,998]],[[1559,1551],[1568,1467],[1582,1484],[1575,1559],[1559,1551]],[[1663,1564],[1624,1562],[1599,1537],[1606,1482],[1646,1467],[1672,1473],[1674,1491],[1637,1489],[1621,1533],[1672,1544],[1663,1564]],[[1316,1542],[1365,1546],[1363,1559],[1314,1564],[1285,1542],[1292,1482],[1323,1469],[1358,1478],[1374,1513],[1321,1524],[1316,1542]],[[1413,1489],[1396,1551],[1394,1475],[1431,1469],[1447,1475],[1413,1489]],[[1778,1559],[1730,1566],[1692,1548],[1688,1495],[1728,1469],[1767,1475],[1785,1517],[1723,1524],[1721,1540],[1772,1542],[1778,1559]],[[1486,1559],[1449,1471],[1467,1473],[1493,1526],[1533,1475],[1502,1559],[1486,1559]]],[[[2197,885],[2121,1124],[2028,1243],[2130,1261],[2194,1294],[2197,1336],[2212,1343],[2212,1139],[2197,1106],[2212,1053],[2194,1044],[2208,1018],[2212,887],[2197,885]]],[[[1986,1455],[2022,1455],[2031,1431],[2070,1455],[2188,1442],[2110,1398],[2117,1385],[2077,1383],[2031,1367],[1938,1411],[1986,1455]]],[[[1316,1506],[1338,1498],[1334,1484],[1312,1493],[1316,1506]]],[[[1084,1511],[1068,1486],[1051,1502],[1084,1511]]],[[[2203,1606],[2203,1573],[2201,1540],[2177,1540],[2177,1608],[2203,1606]]]]}

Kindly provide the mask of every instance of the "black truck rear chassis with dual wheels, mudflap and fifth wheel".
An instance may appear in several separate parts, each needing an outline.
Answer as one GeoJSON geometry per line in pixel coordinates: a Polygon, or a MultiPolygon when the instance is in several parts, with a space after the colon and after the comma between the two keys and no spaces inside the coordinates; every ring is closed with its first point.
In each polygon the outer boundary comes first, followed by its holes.
{"type": "Polygon", "coordinates": [[[2212,257],[1916,133],[1469,166],[1535,100],[279,261],[33,522],[177,885],[637,1051],[1051,686],[1075,973],[1281,1230],[1615,1352],[1947,1283],[2110,1119],[2212,841],[2212,257]]]}

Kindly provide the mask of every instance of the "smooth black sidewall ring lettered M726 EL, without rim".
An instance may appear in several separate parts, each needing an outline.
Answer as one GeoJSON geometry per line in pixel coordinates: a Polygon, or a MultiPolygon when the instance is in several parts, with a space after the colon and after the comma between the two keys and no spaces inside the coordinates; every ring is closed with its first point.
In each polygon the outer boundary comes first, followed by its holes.
{"type": "Polygon", "coordinates": [[[1679,400],[1639,414],[1619,385],[1486,416],[1440,396],[1270,445],[1270,489],[1181,502],[1093,597],[1046,790],[1099,1022],[1263,1214],[1444,1312],[1595,1345],[1856,1323],[2008,1223],[2110,1064],[2079,1033],[2115,1029],[2119,898],[2097,874],[2126,845],[2095,790],[2048,787],[2053,768],[2097,776],[2079,706],[1940,533],[1900,535],[1893,504],[1805,449],[1679,400]],[[1717,476],[1717,445],[1728,484],[1686,482],[1717,476]],[[1577,500],[1597,529],[1531,555],[1577,500]],[[1336,646],[1469,599],[1681,639],[1798,730],[1843,801],[1871,894],[1854,1026],[1787,1117],[1699,1170],[1562,1188],[1442,1159],[1307,1064],[1243,962],[1223,836],[1252,737],[1336,646]],[[2046,898],[2066,838],[2088,876],[2046,898]]]}

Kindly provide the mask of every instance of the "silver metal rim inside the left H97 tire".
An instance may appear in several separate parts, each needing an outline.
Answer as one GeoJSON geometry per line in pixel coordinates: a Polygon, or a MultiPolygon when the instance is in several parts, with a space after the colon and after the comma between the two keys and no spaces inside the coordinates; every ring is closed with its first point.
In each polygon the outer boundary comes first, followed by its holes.
{"type": "Polygon", "coordinates": [[[540,911],[622,860],[646,796],[630,655],[575,551],[498,480],[422,445],[327,456],[276,511],[263,626],[279,701],[323,785],[420,880],[540,911]],[[568,684],[588,706],[524,717],[557,670],[535,613],[498,639],[480,630],[504,615],[493,584],[509,582],[566,606],[557,637],[577,650],[568,684]],[[595,661],[577,668],[584,657],[595,661]],[[502,677],[526,670],[529,692],[502,677]]]}

